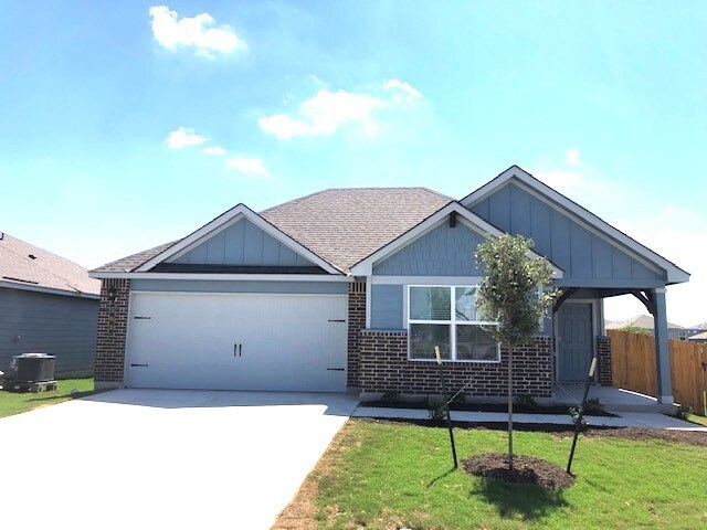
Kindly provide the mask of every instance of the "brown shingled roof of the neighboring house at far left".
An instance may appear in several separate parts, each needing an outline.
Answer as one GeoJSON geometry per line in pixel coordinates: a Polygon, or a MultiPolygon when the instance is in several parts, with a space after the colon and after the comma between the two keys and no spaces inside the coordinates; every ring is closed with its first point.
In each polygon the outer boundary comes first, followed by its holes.
{"type": "Polygon", "coordinates": [[[101,292],[101,282],[81,265],[2,232],[0,286],[91,296],[101,292]]]}

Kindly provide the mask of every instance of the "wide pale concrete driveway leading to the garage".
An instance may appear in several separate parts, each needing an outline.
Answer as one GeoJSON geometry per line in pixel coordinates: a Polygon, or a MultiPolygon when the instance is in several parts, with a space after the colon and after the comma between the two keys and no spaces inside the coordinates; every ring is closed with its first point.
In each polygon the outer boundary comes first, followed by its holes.
{"type": "Polygon", "coordinates": [[[355,409],[342,394],[117,390],[2,418],[0,519],[266,529],[355,409]]]}

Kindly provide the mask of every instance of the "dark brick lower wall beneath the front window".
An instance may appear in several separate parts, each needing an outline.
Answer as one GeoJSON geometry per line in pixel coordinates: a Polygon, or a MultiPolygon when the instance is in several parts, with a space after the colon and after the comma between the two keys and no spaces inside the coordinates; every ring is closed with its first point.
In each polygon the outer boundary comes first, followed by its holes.
{"type": "MultiPolygon", "coordinates": [[[[359,381],[362,392],[439,394],[439,368],[434,361],[408,360],[408,331],[361,331],[359,381]]],[[[535,398],[552,395],[551,339],[537,337],[514,350],[514,392],[535,398]]],[[[508,356],[502,350],[500,363],[444,362],[451,389],[460,389],[472,377],[464,392],[469,396],[502,398],[507,391],[508,356]]]]}

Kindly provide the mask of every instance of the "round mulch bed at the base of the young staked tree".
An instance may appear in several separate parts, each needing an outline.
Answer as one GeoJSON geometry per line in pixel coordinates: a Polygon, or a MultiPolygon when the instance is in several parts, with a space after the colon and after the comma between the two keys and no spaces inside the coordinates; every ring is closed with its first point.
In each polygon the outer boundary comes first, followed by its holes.
{"type": "Polygon", "coordinates": [[[540,458],[515,455],[514,470],[508,469],[508,455],[485,453],[462,462],[464,470],[477,477],[490,477],[507,483],[536,484],[544,489],[567,488],[574,484],[574,477],[564,469],[540,458]]]}

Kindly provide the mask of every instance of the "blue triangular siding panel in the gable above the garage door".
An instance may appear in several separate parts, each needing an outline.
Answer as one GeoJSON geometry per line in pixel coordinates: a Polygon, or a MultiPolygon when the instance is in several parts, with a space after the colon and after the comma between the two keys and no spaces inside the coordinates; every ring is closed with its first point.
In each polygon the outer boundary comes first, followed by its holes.
{"type": "Polygon", "coordinates": [[[168,262],[199,265],[314,265],[246,219],[168,262]]]}

